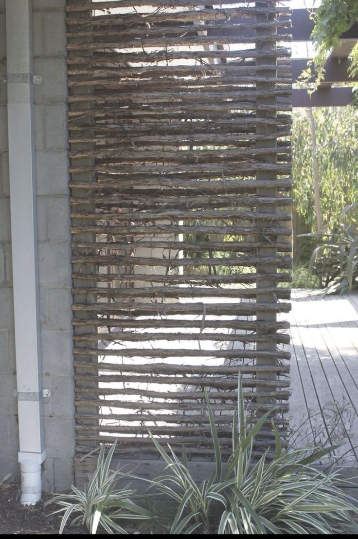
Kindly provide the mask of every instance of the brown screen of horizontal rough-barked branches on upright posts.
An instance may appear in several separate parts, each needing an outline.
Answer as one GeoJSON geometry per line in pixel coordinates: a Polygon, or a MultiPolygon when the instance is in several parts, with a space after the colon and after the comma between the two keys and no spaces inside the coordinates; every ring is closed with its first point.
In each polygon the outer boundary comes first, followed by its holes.
{"type": "MultiPolygon", "coordinates": [[[[223,451],[289,397],[289,11],[68,0],[78,451],[223,451]],[[252,413],[252,417],[251,417],[252,413]]],[[[259,444],[271,440],[268,423],[259,444]]]]}

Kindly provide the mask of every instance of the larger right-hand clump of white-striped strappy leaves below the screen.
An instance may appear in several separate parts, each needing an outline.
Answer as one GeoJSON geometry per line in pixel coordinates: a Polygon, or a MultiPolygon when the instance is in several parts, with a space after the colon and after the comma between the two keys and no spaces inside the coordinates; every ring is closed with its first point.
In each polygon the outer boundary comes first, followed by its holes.
{"type": "Polygon", "coordinates": [[[167,473],[152,481],[159,493],[177,504],[170,534],[343,534],[352,531],[357,509],[339,485],[338,472],[315,469],[332,447],[284,452],[275,425],[275,455],[258,460],[253,441],[272,411],[245,424],[242,388],[233,421],[232,452],[222,473],[222,455],[214,414],[206,395],[215,453],[215,472],[197,485],[187,466],[169,446],[167,453],[152,436],[167,473]]]}

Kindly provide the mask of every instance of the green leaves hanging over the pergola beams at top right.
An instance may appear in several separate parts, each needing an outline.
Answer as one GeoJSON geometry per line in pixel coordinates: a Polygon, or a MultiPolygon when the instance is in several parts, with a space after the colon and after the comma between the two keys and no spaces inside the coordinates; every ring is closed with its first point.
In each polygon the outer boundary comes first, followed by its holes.
{"type": "MultiPolygon", "coordinates": [[[[325,64],[329,51],[339,45],[340,36],[358,22],[358,0],[322,0],[312,13],[314,29],[311,38],[315,43],[315,56],[307,65],[303,79],[312,76],[313,65],[317,72],[316,84],[324,79],[325,64]]],[[[352,50],[350,73],[358,73],[358,43],[352,50]]]]}

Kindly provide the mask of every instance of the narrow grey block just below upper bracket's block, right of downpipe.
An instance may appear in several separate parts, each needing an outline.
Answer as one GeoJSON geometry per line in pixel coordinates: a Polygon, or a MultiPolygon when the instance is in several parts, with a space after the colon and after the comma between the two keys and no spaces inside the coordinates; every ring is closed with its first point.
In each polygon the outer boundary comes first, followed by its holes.
{"type": "Polygon", "coordinates": [[[46,148],[68,148],[67,105],[45,106],[46,148]]]}

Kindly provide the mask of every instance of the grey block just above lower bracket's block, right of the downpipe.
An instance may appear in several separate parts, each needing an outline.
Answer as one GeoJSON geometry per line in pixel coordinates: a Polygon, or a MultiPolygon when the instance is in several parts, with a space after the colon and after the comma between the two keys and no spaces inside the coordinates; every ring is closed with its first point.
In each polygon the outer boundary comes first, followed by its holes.
{"type": "Polygon", "coordinates": [[[56,375],[72,376],[72,332],[41,331],[41,347],[44,371],[56,375]]]}

